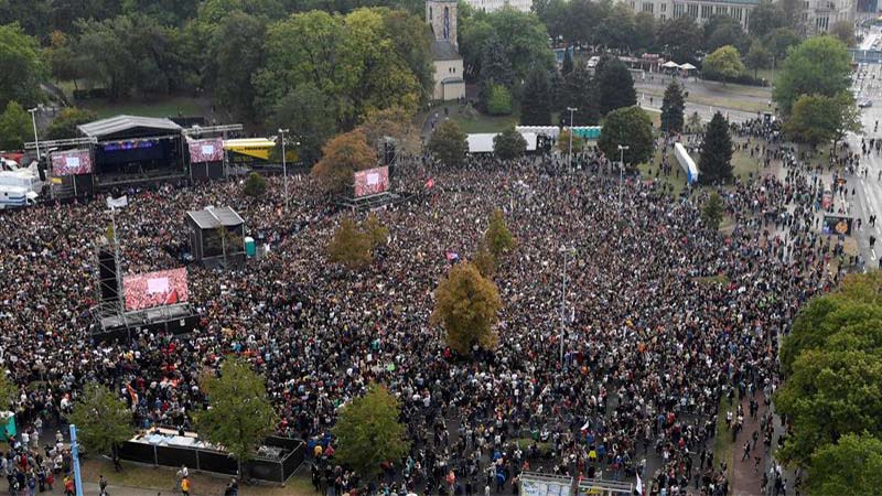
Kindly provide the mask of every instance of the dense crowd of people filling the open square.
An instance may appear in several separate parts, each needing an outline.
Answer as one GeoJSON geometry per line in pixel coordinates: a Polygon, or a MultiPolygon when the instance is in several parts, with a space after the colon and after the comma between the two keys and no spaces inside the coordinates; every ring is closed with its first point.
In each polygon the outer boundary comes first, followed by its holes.
{"type": "Polygon", "coordinates": [[[412,445],[372,489],[516,492],[529,470],[725,494],[725,463],[707,443],[720,398],[767,406],[778,339],[807,299],[838,282],[836,240],[813,230],[818,185],[796,169],[739,181],[724,191],[732,227],[721,234],[700,222],[707,193],[675,198],[638,176],[621,184],[594,154],[574,163],[399,164],[394,187],[415,196],[376,212],[389,237],[361,271],[326,262],[345,214],[309,176],[290,182],[288,212],[278,177],[261,198],[240,182],[118,192],[130,195],[116,220],[126,273],[182,266],[184,213],[206,205],[232,206],[269,246],[235,269],[190,265],[196,332],[131,343],[96,345],[87,331],[104,202],[7,214],[0,359],[21,389],[20,422],[57,423],[84,384],[100,382],[140,427],[186,429],[205,403],[198,378],[236,354],[266,377],[279,433],[310,440],[322,490],[367,484],[336,466],[329,432],[341,405],[379,382],[400,398],[412,445]],[[469,260],[496,208],[517,240],[494,278],[498,348],[455,356],[429,323],[433,290],[445,254],[469,260]]]}

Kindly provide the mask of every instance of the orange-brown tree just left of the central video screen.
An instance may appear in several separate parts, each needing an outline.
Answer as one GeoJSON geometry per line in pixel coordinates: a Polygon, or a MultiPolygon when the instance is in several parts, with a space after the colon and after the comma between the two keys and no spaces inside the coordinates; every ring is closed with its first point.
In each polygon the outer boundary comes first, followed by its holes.
{"type": "Polygon", "coordinates": [[[329,193],[343,192],[355,182],[355,172],[377,164],[377,152],[367,144],[362,131],[337,136],[325,143],[322,153],[322,159],[312,166],[312,175],[329,193]]]}

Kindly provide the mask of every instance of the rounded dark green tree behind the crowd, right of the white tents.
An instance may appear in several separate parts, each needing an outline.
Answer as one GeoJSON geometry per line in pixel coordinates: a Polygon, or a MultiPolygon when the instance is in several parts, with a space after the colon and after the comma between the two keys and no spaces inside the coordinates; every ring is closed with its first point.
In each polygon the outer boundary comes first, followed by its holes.
{"type": "Polygon", "coordinates": [[[652,159],[653,121],[642,108],[617,108],[603,119],[598,148],[606,158],[617,161],[619,145],[628,147],[624,151],[624,161],[630,169],[636,169],[652,159]]]}

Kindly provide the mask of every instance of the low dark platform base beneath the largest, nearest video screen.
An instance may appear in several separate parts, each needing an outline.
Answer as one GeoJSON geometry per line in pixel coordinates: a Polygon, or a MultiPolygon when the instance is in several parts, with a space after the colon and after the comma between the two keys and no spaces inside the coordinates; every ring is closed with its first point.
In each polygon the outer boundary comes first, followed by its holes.
{"type": "Polygon", "coordinates": [[[118,305],[92,309],[89,335],[96,342],[131,339],[142,333],[185,334],[198,325],[198,314],[189,303],[121,312],[118,305]]]}

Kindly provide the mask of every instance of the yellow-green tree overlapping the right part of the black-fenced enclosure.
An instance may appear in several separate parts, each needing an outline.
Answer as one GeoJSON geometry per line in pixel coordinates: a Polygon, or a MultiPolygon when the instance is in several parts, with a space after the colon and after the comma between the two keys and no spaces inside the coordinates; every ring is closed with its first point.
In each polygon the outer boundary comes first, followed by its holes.
{"type": "Polygon", "coordinates": [[[196,432],[224,446],[245,474],[243,464],[257,455],[278,423],[263,378],[244,359],[229,356],[217,376],[205,378],[202,390],[208,397],[208,409],[195,413],[196,432]]]}

